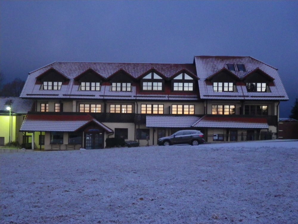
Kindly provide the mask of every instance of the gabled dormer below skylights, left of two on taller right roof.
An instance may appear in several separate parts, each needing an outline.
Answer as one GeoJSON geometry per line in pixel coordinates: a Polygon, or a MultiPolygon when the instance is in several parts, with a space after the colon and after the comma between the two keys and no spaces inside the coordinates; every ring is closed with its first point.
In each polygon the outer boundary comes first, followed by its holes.
{"type": "Polygon", "coordinates": [[[237,91],[235,87],[236,82],[240,81],[240,79],[229,69],[223,67],[209,76],[206,81],[213,85],[214,92],[234,92],[237,91]]]}

